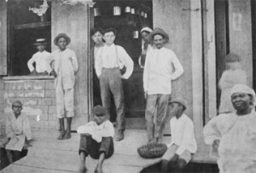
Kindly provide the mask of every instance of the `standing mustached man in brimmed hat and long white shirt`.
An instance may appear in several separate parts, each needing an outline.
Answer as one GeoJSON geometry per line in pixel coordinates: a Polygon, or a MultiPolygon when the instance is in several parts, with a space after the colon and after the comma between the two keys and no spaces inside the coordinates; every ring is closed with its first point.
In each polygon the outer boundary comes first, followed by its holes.
{"type": "Polygon", "coordinates": [[[169,41],[168,34],[164,30],[155,28],[148,39],[154,45],[153,49],[147,52],[143,72],[143,87],[147,99],[145,117],[148,142],[157,142],[162,139],[166,124],[172,80],[183,74],[183,66],[174,52],[164,47],[169,41]]]}

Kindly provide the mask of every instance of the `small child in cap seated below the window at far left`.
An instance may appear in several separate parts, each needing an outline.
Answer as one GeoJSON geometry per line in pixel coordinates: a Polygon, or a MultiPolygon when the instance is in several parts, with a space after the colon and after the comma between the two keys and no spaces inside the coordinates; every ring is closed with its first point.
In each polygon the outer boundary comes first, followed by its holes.
{"type": "Polygon", "coordinates": [[[9,164],[21,159],[22,148],[29,145],[29,142],[32,140],[29,120],[26,114],[21,112],[22,103],[20,101],[14,101],[12,109],[14,113],[9,115],[6,123],[8,143],[6,144],[5,149],[9,164]]]}

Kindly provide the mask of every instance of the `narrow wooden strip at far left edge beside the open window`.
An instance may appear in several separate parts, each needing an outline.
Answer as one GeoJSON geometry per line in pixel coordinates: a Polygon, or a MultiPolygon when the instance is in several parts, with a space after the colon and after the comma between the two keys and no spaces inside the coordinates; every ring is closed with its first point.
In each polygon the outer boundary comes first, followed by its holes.
{"type": "Polygon", "coordinates": [[[7,3],[0,1],[0,75],[7,75],[7,3]]]}

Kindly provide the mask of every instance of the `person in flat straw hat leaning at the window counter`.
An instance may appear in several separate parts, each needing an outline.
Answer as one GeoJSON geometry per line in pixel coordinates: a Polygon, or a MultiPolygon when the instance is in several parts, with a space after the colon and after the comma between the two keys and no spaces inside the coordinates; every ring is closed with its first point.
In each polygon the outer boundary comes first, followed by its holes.
{"type": "Polygon", "coordinates": [[[50,63],[53,60],[51,54],[45,50],[47,45],[46,39],[38,38],[34,45],[37,46],[38,52],[27,61],[27,66],[32,75],[48,75],[52,71],[50,63]],[[33,63],[36,63],[36,68],[34,68],[33,63]]]}

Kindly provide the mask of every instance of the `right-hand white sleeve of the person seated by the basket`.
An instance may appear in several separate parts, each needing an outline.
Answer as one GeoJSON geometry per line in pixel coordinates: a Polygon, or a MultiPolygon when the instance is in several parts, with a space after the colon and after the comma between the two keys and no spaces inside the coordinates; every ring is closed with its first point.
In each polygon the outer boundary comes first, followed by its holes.
{"type": "Polygon", "coordinates": [[[194,133],[194,125],[192,122],[189,122],[185,125],[183,132],[183,139],[181,145],[177,148],[177,155],[182,154],[186,149],[188,149],[190,141],[194,133]]]}

